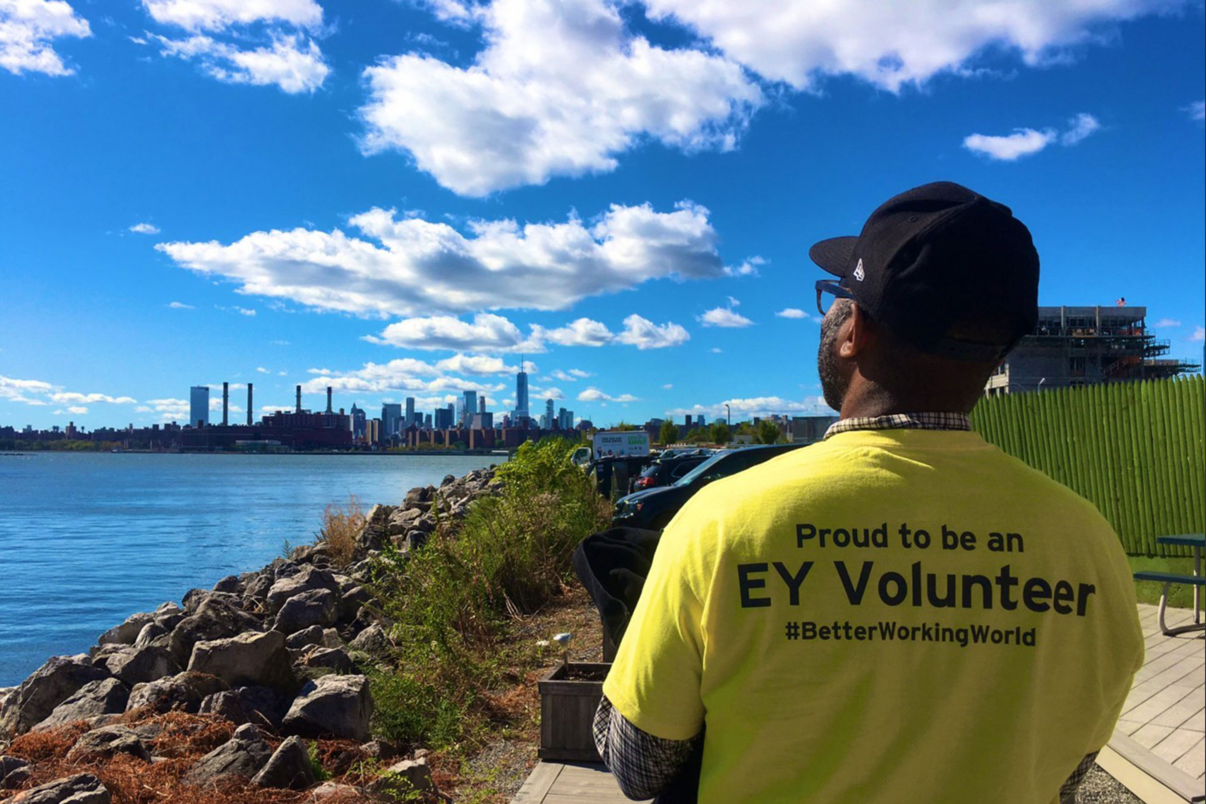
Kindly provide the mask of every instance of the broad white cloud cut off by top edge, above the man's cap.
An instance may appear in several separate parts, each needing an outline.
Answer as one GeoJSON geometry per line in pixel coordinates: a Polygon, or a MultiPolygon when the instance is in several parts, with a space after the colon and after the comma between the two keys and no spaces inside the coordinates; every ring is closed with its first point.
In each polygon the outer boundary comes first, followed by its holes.
{"type": "Polygon", "coordinates": [[[1107,23],[1160,12],[1176,0],[915,0],[798,2],[645,0],[658,20],[689,25],[730,58],[771,81],[816,89],[825,76],[853,75],[898,92],[942,72],[972,74],[979,57],[1015,53],[1052,61],[1107,23]]]}

